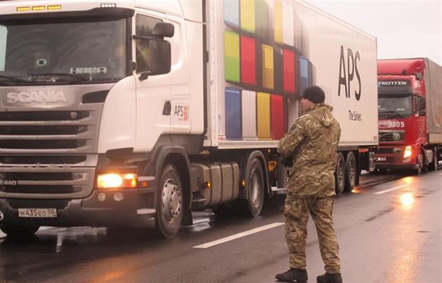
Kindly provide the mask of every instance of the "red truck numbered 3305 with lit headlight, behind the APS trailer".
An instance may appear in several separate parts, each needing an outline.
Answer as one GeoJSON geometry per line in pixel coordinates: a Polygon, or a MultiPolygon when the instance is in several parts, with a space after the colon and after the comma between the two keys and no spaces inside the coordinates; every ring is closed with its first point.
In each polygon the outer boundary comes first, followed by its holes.
{"type": "Polygon", "coordinates": [[[442,67],[427,58],[378,60],[377,170],[437,170],[442,159],[442,67]]]}

